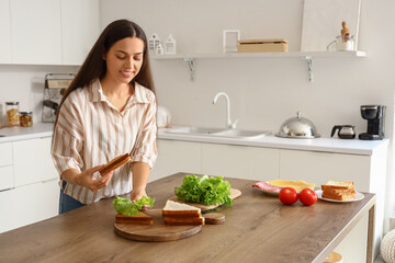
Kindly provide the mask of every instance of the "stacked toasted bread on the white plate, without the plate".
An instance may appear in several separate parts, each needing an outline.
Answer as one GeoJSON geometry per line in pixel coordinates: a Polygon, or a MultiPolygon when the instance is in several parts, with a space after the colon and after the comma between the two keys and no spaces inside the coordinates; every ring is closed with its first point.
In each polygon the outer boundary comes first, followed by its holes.
{"type": "Polygon", "coordinates": [[[335,181],[329,180],[321,185],[323,198],[348,201],[356,198],[356,188],[351,181],[335,181]]]}

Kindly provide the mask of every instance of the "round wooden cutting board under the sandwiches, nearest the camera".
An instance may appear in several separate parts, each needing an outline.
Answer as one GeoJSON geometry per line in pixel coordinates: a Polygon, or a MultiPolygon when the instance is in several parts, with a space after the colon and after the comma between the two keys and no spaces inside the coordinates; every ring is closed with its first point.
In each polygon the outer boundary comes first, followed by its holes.
{"type": "Polygon", "coordinates": [[[153,225],[114,224],[114,232],[136,241],[172,241],[192,237],[202,226],[165,225],[161,209],[148,209],[144,214],[154,218],[153,225]]]}

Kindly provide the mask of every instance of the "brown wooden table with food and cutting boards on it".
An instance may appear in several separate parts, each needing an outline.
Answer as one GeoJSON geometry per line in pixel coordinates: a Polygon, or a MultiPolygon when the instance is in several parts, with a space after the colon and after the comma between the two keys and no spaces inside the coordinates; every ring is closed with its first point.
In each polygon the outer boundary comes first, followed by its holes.
{"type": "MultiPolygon", "coordinates": [[[[149,183],[161,208],[184,173],[149,183]]],[[[138,242],[114,233],[112,199],[0,235],[0,262],[323,262],[369,213],[368,262],[373,262],[375,195],[353,203],[318,201],[314,206],[282,205],[251,187],[255,181],[228,179],[242,192],[222,208],[224,225],[170,242],[138,242]]],[[[23,201],[21,201],[21,205],[23,201]]]]}

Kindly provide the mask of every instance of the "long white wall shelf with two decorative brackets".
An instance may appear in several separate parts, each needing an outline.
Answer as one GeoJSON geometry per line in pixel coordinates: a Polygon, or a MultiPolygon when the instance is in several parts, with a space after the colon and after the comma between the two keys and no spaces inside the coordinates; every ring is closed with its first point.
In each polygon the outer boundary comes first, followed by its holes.
{"type": "Polygon", "coordinates": [[[194,60],[205,58],[297,58],[307,61],[308,80],[313,82],[313,59],[314,58],[362,58],[364,52],[291,52],[291,53],[221,53],[221,54],[177,54],[154,56],[154,59],[180,59],[188,62],[191,80],[194,77],[194,60]]]}

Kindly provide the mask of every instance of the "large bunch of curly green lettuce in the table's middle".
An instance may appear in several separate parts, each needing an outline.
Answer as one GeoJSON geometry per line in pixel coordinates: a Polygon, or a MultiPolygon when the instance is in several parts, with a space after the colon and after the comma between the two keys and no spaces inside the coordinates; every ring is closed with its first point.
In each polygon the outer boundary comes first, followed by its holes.
{"type": "Polygon", "coordinates": [[[223,181],[223,176],[208,178],[204,175],[187,174],[183,178],[182,185],[174,188],[177,197],[181,201],[199,203],[203,205],[224,204],[232,206],[233,199],[230,195],[230,184],[223,181]]]}

